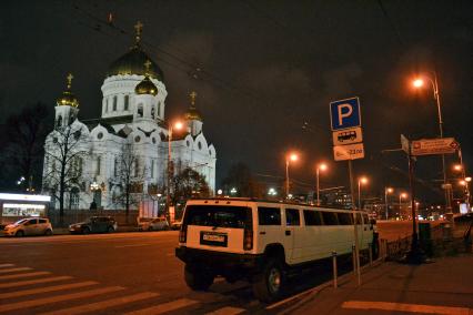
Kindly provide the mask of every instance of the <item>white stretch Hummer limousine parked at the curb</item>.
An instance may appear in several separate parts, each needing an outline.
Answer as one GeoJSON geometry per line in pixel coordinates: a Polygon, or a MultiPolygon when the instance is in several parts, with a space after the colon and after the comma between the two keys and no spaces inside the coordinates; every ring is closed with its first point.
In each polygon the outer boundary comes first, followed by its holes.
{"type": "Polygon", "coordinates": [[[190,200],[175,255],[185,263],[193,289],[207,289],[218,275],[229,282],[248,278],[258,298],[272,302],[281,297],[290,268],[352,252],[354,217],[360,248],[371,250],[378,235],[365,212],[251,199],[190,200]]]}

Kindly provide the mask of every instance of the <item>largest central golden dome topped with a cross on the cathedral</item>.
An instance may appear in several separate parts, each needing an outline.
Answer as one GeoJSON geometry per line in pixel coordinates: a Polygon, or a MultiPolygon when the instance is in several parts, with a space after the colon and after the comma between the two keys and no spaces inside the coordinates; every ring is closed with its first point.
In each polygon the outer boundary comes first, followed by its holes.
{"type": "Polygon", "coordinates": [[[118,75],[118,74],[138,74],[144,75],[148,73],[150,78],[158,79],[163,82],[163,74],[161,69],[155,62],[153,62],[148,54],[141,49],[141,31],[142,24],[138,22],[134,27],[137,30],[135,43],[131,47],[130,51],[113,61],[109,70],[107,71],[107,77],[118,75]],[[150,61],[150,69],[147,71],[144,63],[150,61]]]}

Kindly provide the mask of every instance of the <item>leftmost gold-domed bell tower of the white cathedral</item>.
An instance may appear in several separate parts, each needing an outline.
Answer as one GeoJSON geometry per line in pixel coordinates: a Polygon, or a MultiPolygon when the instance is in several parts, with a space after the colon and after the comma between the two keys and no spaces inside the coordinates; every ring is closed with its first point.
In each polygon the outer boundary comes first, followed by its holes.
{"type": "Polygon", "coordinates": [[[68,74],[67,90],[62,92],[62,95],[56,102],[56,128],[70,125],[78,116],[79,101],[71,91],[73,78],[71,73],[68,74]]]}

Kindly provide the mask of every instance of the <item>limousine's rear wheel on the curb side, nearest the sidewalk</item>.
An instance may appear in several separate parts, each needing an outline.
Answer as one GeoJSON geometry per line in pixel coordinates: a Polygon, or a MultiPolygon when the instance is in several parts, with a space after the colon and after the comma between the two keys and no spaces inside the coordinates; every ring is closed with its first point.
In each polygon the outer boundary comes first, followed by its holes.
{"type": "Polygon", "coordinates": [[[254,296],[265,303],[281,298],[284,286],[284,270],[278,258],[269,258],[262,272],[253,278],[254,296]]]}

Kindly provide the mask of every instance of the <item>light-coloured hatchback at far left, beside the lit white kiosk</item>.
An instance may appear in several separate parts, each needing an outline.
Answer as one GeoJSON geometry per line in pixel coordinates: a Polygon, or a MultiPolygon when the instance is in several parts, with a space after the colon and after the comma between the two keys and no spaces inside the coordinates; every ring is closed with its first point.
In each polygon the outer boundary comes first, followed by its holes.
{"type": "Polygon", "coordinates": [[[13,224],[3,227],[6,236],[26,236],[26,235],[52,235],[52,226],[49,219],[29,217],[22,219],[13,224]]]}

